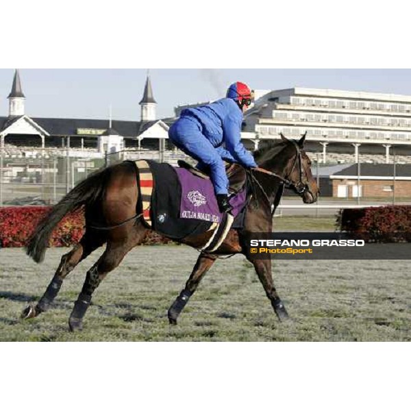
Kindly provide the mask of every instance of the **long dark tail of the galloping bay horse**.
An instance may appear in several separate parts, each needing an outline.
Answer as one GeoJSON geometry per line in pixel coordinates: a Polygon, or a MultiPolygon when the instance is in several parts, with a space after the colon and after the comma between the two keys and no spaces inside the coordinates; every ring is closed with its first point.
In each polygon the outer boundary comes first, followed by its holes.
{"type": "Polygon", "coordinates": [[[55,204],[51,212],[38,223],[34,233],[29,238],[26,247],[27,256],[32,257],[35,262],[42,262],[55,226],[69,212],[78,210],[84,205],[89,206],[97,199],[102,198],[109,175],[110,168],[92,173],[55,204]]]}

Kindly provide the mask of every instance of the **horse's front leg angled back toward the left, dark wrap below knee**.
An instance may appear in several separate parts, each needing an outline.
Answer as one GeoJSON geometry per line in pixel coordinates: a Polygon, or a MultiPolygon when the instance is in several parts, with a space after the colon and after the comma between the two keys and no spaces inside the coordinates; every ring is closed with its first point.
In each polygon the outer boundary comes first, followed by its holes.
{"type": "Polygon", "coordinates": [[[192,294],[197,290],[201,279],[214,264],[216,258],[213,256],[207,256],[200,254],[192,273],[186,282],[186,288],[180,292],[179,296],[175,299],[171,307],[169,308],[168,316],[170,324],[177,324],[177,318],[182,312],[183,308],[188,303],[188,300],[192,294]]]}

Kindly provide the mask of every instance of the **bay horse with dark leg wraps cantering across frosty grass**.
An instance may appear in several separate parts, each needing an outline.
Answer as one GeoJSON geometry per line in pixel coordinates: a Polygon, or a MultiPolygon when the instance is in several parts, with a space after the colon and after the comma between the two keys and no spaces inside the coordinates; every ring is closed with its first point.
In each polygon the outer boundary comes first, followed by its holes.
{"type": "MultiPolygon", "coordinates": [[[[314,203],[319,195],[315,179],[310,169],[310,159],[303,150],[306,138],[288,139],[281,135],[281,140],[269,142],[253,152],[258,169],[251,171],[253,180],[253,201],[248,201],[245,210],[245,223],[242,229],[230,229],[221,246],[212,253],[201,252],[192,270],[184,290],[169,308],[168,318],[171,324],[177,323],[188,299],[199,286],[199,282],[220,256],[242,253],[249,260],[262,283],[266,296],[277,314],[279,321],[288,317],[282,300],[273,284],[271,260],[258,260],[245,247],[247,235],[257,232],[271,232],[273,212],[279,203],[284,187],[288,186],[303,199],[304,203],[314,203]]],[[[239,170],[244,169],[237,165],[239,170]]],[[[33,318],[45,312],[58,295],[64,278],[95,249],[106,244],[99,260],[87,272],[82,291],[75,301],[69,318],[69,329],[82,329],[84,314],[92,298],[92,293],[103,278],[114,270],[124,256],[142,242],[147,234],[147,225],[141,214],[136,214],[138,204],[138,179],[136,168],[131,162],[114,164],[101,169],[77,184],[59,203],[51,209],[45,219],[37,225],[29,239],[26,251],[34,261],[41,262],[49,244],[53,229],[69,212],[84,207],[86,230],[77,245],[66,253],[58,266],[53,279],[36,306],[30,304],[23,311],[23,318],[33,318]],[[112,229],[101,230],[92,223],[112,229]]],[[[211,232],[187,236],[180,242],[196,249],[203,247],[211,232]]],[[[160,251],[160,249],[159,249],[160,251]]]]}

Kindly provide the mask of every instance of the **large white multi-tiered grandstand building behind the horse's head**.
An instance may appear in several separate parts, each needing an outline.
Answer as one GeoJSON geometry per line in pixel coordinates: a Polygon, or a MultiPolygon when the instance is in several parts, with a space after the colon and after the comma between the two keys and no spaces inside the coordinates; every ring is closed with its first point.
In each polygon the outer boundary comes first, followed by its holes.
{"type": "MultiPolygon", "coordinates": [[[[244,131],[260,140],[307,131],[323,163],[411,162],[411,96],[315,88],[256,91],[244,131]]],[[[314,158],[315,160],[315,158],[314,158]]]]}

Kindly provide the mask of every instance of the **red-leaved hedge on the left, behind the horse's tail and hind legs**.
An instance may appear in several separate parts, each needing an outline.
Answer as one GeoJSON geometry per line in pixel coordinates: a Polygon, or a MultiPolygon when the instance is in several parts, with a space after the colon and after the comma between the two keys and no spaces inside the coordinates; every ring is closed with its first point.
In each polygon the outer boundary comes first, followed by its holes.
{"type": "MultiPolygon", "coordinates": [[[[29,236],[51,207],[6,207],[0,208],[0,247],[24,247],[29,236]]],[[[75,245],[84,233],[84,212],[78,210],[67,214],[51,234],[51,247],[75,245]]],[[[147,233],[143,244],[154,245],[171,242],[154,232],[147,233]]]]}

